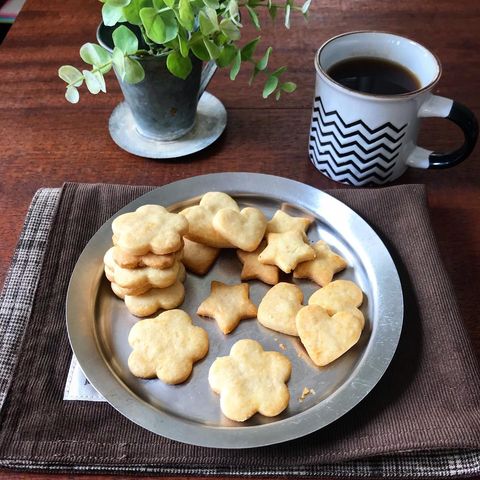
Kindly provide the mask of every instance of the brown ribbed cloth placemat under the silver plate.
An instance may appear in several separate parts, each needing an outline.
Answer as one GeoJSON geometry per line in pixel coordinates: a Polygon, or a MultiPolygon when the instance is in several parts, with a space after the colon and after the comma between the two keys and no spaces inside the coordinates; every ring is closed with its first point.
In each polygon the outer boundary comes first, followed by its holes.
{"type": "MultiPolygon", "coordinates": [[[[18,361],[7,382],[0,465],[123,473],[428,476],[438,474],[432,467],[436,459],[440,472],[479,472],[479,370],[439,257],[422,186],[329,192],[385,241],[405,297],[404,329],[391,366],[371,394],[332,425],[261,449],[207,449],[154,435],[107,404],[63,401],[71,358],[65,296],[75,262],[102,223],[150,189],[64,186],[18,361]]],[[[25,232],[22,238],[16,261],[20,251],[28,264],[29,257],[37,258],[38,245],[25,232]]],[[[20,281],[15,275],[9,275],[10,287],[20,281]]],[[[0,302],[2,325],[8,322],[8,306],[15,304],[6,298],[0,302]]],[[[7,345],[9,339],[3,336],[2,342],[7,345]]]]}

